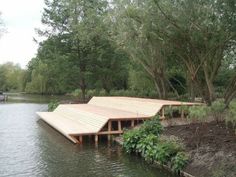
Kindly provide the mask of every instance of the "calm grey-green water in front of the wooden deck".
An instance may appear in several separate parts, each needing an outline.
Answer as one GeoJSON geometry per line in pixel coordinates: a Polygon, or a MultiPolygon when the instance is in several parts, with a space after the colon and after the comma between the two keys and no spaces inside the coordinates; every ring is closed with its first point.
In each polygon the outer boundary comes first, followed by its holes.
{"type": "Polygon", "coordinates": [[[117,145],[74,145],[39,120],[46,104],[16,100],[0,104],[1,177],[174,177],[117,145]]]}

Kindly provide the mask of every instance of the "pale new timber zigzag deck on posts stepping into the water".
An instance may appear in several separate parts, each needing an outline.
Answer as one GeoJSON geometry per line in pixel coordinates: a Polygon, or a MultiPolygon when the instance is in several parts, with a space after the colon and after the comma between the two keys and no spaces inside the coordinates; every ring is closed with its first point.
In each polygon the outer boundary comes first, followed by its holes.
{"type": "MultiPolygon", "coordinates": [[[[192,106],[198,103],[144,99],[132,97],[93,97],[87,104],[62,104],[53,112],[37,114],[73,143],[82,143],[83,137],[122,134],[123,128],[159,114],[165,118],[165,107],[192,106]]],[[[183,117],[183,113],[181,113],[183,117]]]]}

